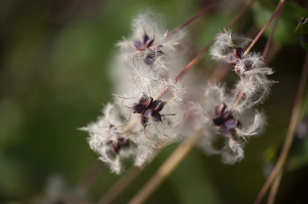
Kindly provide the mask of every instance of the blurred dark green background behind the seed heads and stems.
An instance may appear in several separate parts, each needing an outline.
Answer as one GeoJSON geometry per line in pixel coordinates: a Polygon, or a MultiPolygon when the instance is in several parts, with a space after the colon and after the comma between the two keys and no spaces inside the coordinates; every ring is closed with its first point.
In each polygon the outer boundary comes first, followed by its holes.
{"type": "MultiPolygon", "coordinates": [[[[95,163],[97,156],[89,149],[87,134],[77,128],[94,121],[102,104],[111,100],[117,83],[109,80],[115,43],[130,34],[134,16],[151,7],[162,14],[171,30],[212,1],[1,0],[0,203],[31,203],[45,194],[48,181],[55,177],[61,178],[63,193],[68,193],[95,163]]],[[[210,42],[244,2],[224,0],[189,25],[192,52],[210,42]]],[[[233,29],[243,34],[252,29],[256,34],[276,4],[277,0],[256,0],[233,29]]],[[[301,17],[308,17],[307,4],[305,0],[287,0],[270,62],[276,71],[272,77],[279,83],[262,107],[268,127],[246,145],[245,159],[230,166],[222,164],[218,156],[194,149],[147,203],[253,202],[266,180],[264,169],[275,162],[288,127],[305,56],[294,29],[301,17]]],[[[269,32],[258,41],[257,51],[262,51],[269,32]]],[[[206,54],[193,71],[211,70],[212,65],[206,54]]],[[[226,78],[230,83],[235,80],[234,75],[226,78]]],[[[307,122],[302,125],[305,130],[307,122]]],[[[277,203],[305,203],[306,133],[291,152],[277,203]]],[[[126,203],[177,145],[166,147],[115,203],[126,203]]],[[[119,178],[105,170],[87,199],[98,201],[119,178]]]]}

